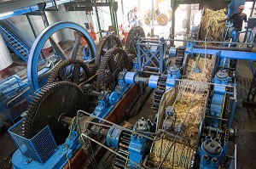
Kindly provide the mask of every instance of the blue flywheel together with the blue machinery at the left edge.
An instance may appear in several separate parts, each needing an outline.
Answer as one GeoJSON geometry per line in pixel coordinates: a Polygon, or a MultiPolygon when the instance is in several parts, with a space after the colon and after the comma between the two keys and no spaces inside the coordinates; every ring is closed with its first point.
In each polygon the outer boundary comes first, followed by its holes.
{"type": "Polygon", "coordinates": [[[30,51],[27,70],[21,71],[15,76],[10,76],[0,84],[0,93],[2,96],[0,100],[0,112],[4,116],[9,117],[1,118],[0,126],[5,123],[5,120],[10,120],[13,123],[17,122],[20,115],[27,110],[28,104],[34,99],[34,93],[37,93],[40,87],[44,87],[55,65],[58,65],[61,60],[77,58],[80,37],[84,37],[87,42],[87,48],[90,49],[93,61],[96,55],[96,46],[90,34],[85,31],[81,25],[72,22],[58,22],[49,25],[38,35],[30,51]],[[61,46],[57,44],[53,38],[55,32],[63,29],[67,31],[67,28],[76,31],[78,35],[73,43],[72,52],[68,57],[67,53],[65,54],[65,52],[63,52],[61,46]],[[42,60],[40,57],[45,42],[51,43],[53,55],[42,60]]]}

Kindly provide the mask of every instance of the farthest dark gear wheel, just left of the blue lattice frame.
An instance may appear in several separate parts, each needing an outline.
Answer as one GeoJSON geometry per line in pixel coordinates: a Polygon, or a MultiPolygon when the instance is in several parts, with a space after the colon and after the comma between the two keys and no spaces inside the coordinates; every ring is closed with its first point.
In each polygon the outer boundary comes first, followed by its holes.
{"type": "Polygon", "coordinates": [[[125,42],[126,54],[134,54],[137,56],[137,39],[139,37],[145,37],[145,32],[141,26],[131,28],[128,33],[128,37],[125,42]]]}

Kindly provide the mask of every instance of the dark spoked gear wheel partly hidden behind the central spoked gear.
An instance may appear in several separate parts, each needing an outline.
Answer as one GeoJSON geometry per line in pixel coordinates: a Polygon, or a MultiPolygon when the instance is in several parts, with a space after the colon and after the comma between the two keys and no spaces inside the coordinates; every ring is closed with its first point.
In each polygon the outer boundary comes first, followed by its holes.
{"type": "Polygon", "coordinates": [[[101,39],[96,48],[96,65],[101,64],[102,57],[108,52],[108,50],[116,47],[122,47],[122,43],[119,37],[115,35],[110,35],[104,39],[101,39]]]}

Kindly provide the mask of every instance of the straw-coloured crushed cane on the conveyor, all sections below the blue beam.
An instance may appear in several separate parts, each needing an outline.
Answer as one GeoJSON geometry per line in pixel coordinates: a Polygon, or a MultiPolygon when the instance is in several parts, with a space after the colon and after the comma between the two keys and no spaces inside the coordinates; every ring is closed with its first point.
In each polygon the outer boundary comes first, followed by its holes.
{"type": "MultiPolygon", "coordinates": [[[[207,57],[207,65],[206,65],[206,73],[203,75],[202,82],[208,82],[208,80],[211,79],[212,76],[212,68],[214,66],[214,56],[207,57]]],[[[204,57],[201,57],[198,65],[203,70],[205,63],[204,57]]],[[[188,72],[192,69],[192,67],[195,65],[195,59],[189,59],[188,63],[188,72]]],[[[189,79],[199,81],[202,73],[196,74],[195,72],[191,72],[189,79]]],[[[191,86],[187,86],[187,88],[191,88],[191,86]]],[[[189,109],[189,104],[191,103],[191,100],[193,99],[194,93],[190,92],[189,90],[183,91],[180,99],[177,100],[177,103],[174,105],[175,112],[177,115],[176,119],[176,125],[183,121],[187,110],[189,109]]],[[[173,168],[175,169],[184,169],[187,168],[190,165],[193,157],[194,152],[196,149],[196,142],[197,142],[197,136],[199,134],[199,126],[201,122],[201,116],[203,113],[205,101],[207,99],[207,91],[198,93],[195,96],[195,101],[191,106],[191,109],[189,110],[189,115],[187,116],[187,120],[185,121],[185,126],[187,127],[187,131],[184,133],[184,136],[189,139],[189,144],[183,139],[182,141],[178,141],[177,144],[175,144],[175,150],[174,148],[171,149],[169,154],[166,157],[166,161],[163,163],[163,166],[167,168],[172,168],[172,161],[173,161],[173,168]],[[174,150],[174,158],[173,157],[173,150],[174,150]]],[[[172,140],[170,139],[163,139],[162,149],[161,149],[161,143],[162,140],[157,140],[154,144],[153,152],[150,155],[150,161],[153,161],[155,164],[158,164],[160,159],[162,160],[166,154],[167,149],[172,144],[172,140]],[[161,158],[160,158],[160,152],[161,158]]]]}

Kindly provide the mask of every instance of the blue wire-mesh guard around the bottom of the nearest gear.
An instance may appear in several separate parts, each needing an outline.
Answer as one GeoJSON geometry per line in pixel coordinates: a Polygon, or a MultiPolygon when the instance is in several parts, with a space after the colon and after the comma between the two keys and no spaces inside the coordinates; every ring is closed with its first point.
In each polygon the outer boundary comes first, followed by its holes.
{"type": "Polygon", "coordinates": [[[44,127],[31,139],[24,138],[22,132],[22,122],[24,120],[23,118],[13,127],[10,127],[8,132],[23,155],[44,164],[58,147],[55,138],[50,132],[49,126],[44,127]]]}

